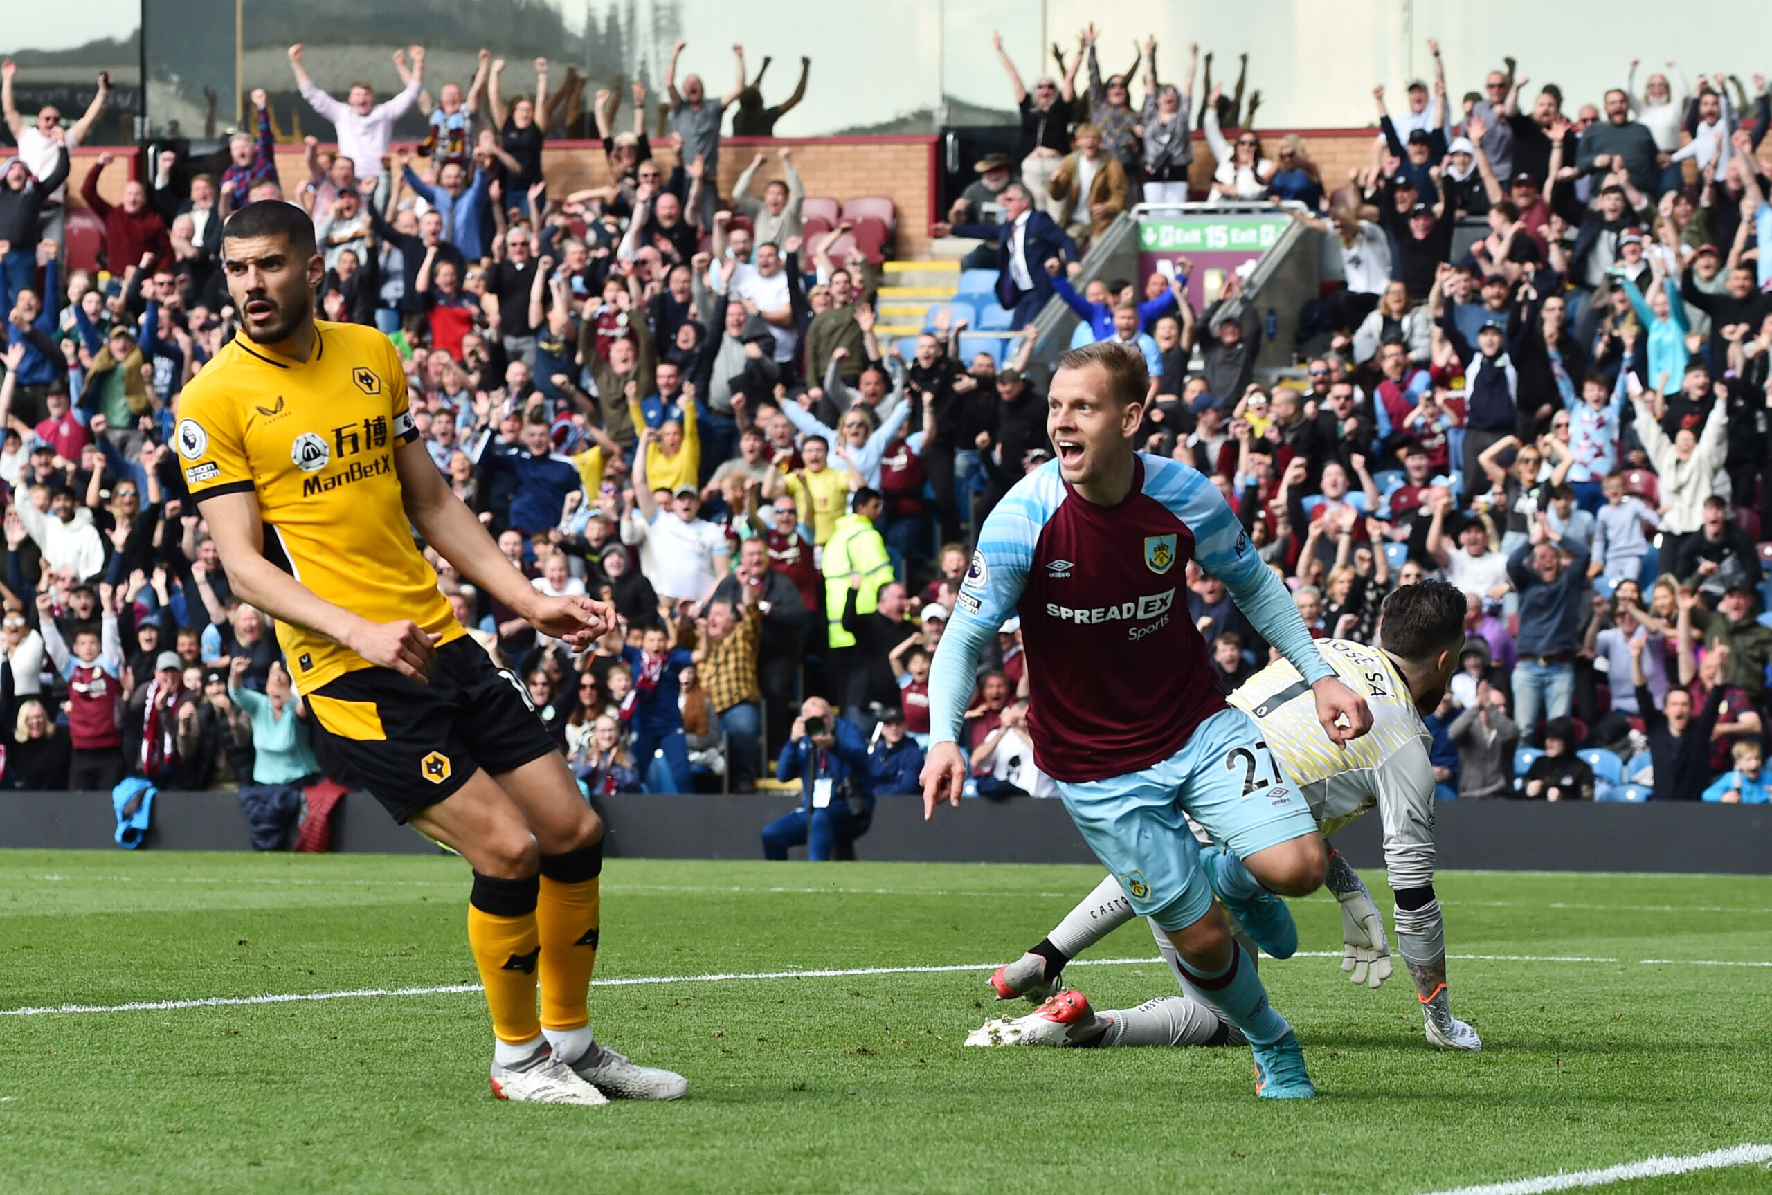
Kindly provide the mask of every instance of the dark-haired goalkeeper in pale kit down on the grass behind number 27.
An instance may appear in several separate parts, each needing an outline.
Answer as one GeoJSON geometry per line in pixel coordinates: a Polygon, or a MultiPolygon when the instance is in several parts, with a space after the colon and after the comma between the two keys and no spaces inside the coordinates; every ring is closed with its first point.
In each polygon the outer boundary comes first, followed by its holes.
{"type": "MultiPolygon", "coordinates": [[[[1458,664],[1464,646],[1464,593],[1441,581],[1403,586],[1384,602],[1379,646],[1324,639],[1324,659],[1372,708],[1372,731],[1336,745],[1317,721],[1311,692],[1297,669],[1279,660],[1251,676],[1230,703],[1262,728],[1269,751],[1304,793],[1324,836],[1372,807],[1384,821],[1384,860],[1396,899],[1396,937],[1414,979],[1426,1037],[1442,1050],[1480,1050],[1476,1030],[1451,1014],[1446,990],[1446,935],[1434,894],[1434,765],[1432,738],[1421,721],[1432,712],[1458,664]]],[[[1240,767],[1228,758],[1224,767],[1240,767]]],[[[1260,800],[1262,790],[1246,793],[1260,800]]],[[[1347,860],[1329,846],[1325,887],[1341,901],[1341,970],[1356,984],[1380,986],[1391,975],[1391,947],[1372,894],[1347,860]]],[[[1201,852],[1214,890],[1235,896],[1247,871],[1221,848],[1201,852]]],[[[1031,951],[991,975],[998,998],[1045,1002],[1031,1014],[992,1020],[968,1045],[1058,1046],[1207,1046],[1237,1045],[1240,1036],[1194,993],[1177,967],[1168,937],[1155,933],[1170,970],[1187,995],[1155,997],[1136,1009],[1095,1011],[1081,991],[1065,990],[1072,958],[1132,919],[1132,906],[1108,876],[1031,951]]],[[[1297,944],[1292,944],[1297,949],[1297,944]]],[[[1290,956],[1286,949],[1279,958],[1290,956]]]]}

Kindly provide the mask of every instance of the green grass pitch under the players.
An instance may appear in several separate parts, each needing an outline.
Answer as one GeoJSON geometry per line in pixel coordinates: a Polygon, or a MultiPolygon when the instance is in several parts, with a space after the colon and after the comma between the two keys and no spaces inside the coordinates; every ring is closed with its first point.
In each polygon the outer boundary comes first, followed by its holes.
{"type": "MultiPolygon", "coordinates": [[[[1322,1096],[1258,1101],[1247,1050],[962,1048],[983,965],[1090,867],[611,860],[599,1039],[688,1075],[673,1105],[514,1106],[477,993],[0,1016],[5,1191],[1437,1191],[1772,1144],[1772,880],[1451,873],[1453,1007],[1409,979],[1267,961],[1322,1096]],[[1542,961],[1460,960],[1460,954],[1542,961]],[[1545,960],[1616,961],[1545,961],[1545,960]],[[1643,960],[1705,960],[1708,965],[1643,960]],[[796,979],[727,972],[973,970],[796,979]]],[[[1368,875],[1389,908],[1382,875],[1368,875]]],[[[0,1009],[475,983],[443,857],[0,852],[0,1009]]],[[[1294,903],[1340,951],[1333,899],[1294,903]]],[[[1072,967],[1168,993],[1134,922],[1072,967]]],[[[1749,1165],[1611,1191],[1772,1191],[1749,1165]]]]}

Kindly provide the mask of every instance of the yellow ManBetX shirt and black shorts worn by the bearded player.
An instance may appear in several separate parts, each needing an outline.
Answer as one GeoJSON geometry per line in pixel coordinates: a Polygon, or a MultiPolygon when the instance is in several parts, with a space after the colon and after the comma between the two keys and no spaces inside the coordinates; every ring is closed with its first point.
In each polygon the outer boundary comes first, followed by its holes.
{"type": "Polygon", "coordinates": [[[310,591],[376,623],[439,634],[431,683],[276,623],[296,690],[338,756],[400,821],[555,744],[523,685],[466,637],[413,544],[393,448],[418,437],[393,343],[317,324],[310,361],[236,336],[179,397],[174,444],[191,496],[253,492],[264,556],[310,591]]]}

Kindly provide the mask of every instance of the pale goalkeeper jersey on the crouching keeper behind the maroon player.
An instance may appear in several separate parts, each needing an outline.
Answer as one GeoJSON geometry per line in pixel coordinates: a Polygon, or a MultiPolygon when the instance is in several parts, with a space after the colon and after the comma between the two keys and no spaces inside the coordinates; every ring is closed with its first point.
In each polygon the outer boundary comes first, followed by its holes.
{"type": "Polygon", "coordinates": [[[1434,882],[1434,738],[1409,685],[1379,648],[1348,639],[1317,644],[1372,708],[1372,729],[1336,745],[1317,721],[1311,687],[1286,660],[1246,680],[1230,703],[1253,717],[1267,749],[1292,777],[1324,836],[1373,806],[1384,821],[1391,887],[1434,882]]]}

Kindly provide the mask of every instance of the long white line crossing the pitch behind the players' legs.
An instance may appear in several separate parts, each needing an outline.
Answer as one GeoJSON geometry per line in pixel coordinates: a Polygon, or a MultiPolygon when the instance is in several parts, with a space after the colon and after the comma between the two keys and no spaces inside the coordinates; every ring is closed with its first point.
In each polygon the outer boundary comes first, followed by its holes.
{"type": "MultiPolygon", "coordinates": [[[[1341,958],[1340,951],[1299,951],[1292,958],[1341,958]]],[[[1620,963],[1616,958],[1582,954],[1448,954],[1455,961],[1471,963],[1620,963]]],[[[1267,960],[1281,961],[1281,960],[1267,960]]],[[[1690,965],[1690,967],[1772,967],[1772,961],[1729,961],[1701,958],[1644,958],[1637,965],[1690,965]]],[[[1070,967],[1164,967],[1162,958],[1074,958],[1070,967]]],[[[955,970],[992,970],[999,963],[939,963],[927,967],[842,967],[804,970],[723,970],[702,975],[633,975],[620,979],[592,979],[592,988],[631,988],[666,983],[730,983],[741,979],[842,979],[847,975],[934,975],[955,970]]],[[[431,988],[354,988],[349,991],[285,991],[257,997],[200,997],[195,1000],[131,1000],[128,1004],[46,1004],[19,1009],[0,1009],[0,1016],[48,1016],[51,1013],[159,1013],[172,1009],[232,1007],[241,1004],[307,1004],[314,1000],[360,1000],[370,997],[462,995],[480,991],[477,983],[441,984],[431,988]]]]}

